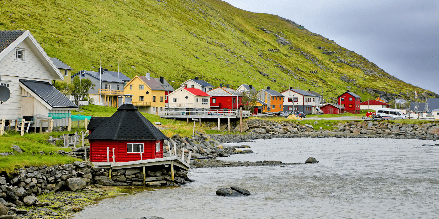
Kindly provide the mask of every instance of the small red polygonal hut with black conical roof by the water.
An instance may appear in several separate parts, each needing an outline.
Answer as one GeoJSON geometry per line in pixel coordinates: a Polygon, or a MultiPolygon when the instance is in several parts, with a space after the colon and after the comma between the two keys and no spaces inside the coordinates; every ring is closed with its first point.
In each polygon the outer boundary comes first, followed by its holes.
{"type": "Polygon", "coordinates": [[[90,161],[127,162],[163,157],[163,141],[168,137],[129,101],[103,120],[86,139],[90,141],[90,161]]]}

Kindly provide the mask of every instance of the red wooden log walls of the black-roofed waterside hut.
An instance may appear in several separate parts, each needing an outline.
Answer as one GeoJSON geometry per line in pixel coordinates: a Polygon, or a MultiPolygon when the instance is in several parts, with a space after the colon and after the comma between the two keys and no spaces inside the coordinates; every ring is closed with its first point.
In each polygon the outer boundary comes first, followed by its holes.
{"type": "Polygon", "coordinates": [[[142,159],[153,159],[163,157],[163,141],[108,141],[90,140],[90,161],[107,162],[107,147],[110,149],[110,162],[113,161],[113,148],[115,148],[115,162],[127,162],[140,160],[140,153],[126,152],[128,143],[144,143],[142,159]],[[160,142],[160,151],[155,151],[155,143],[160,142]]]}

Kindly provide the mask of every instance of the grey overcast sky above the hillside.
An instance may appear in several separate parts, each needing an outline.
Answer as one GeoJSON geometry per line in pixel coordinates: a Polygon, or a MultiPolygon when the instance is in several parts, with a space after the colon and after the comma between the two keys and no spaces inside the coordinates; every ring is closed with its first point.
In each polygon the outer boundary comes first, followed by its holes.
{"type": "Polygon", "coordinates": [[[439,94],[438,0],[225,1],[295,21],[387,73],[439,94]]]}

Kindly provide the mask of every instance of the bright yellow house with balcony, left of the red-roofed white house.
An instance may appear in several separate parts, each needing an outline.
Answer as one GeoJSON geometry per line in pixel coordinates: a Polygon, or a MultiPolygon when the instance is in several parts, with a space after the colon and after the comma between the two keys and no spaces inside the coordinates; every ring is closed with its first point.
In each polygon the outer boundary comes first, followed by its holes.
{"type": "Polygon", "coordinates": [[[158,114],[158,109],[165,108],[166,89],[155,78],[136,75],[123,87],[125,94],[133,95],[131,103],[140,112],[158,114]]]}

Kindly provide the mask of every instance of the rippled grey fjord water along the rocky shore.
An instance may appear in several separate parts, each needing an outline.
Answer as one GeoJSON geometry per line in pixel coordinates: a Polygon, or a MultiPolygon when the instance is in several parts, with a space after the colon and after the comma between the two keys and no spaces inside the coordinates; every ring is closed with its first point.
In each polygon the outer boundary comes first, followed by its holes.
{"type": "MultiPolygon", "coordinates": [[[[84,208],[75,219],[439,218],[439,143],[379,138],[277,138],[224,161],[307,165],[199,168],[181,187],[142,188],[84,208]],[[252,195],[220,197],[237,185],[252,195]]],[[[230,144],[242,145],[242,144],[230,144]]]]}

